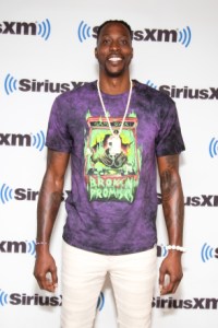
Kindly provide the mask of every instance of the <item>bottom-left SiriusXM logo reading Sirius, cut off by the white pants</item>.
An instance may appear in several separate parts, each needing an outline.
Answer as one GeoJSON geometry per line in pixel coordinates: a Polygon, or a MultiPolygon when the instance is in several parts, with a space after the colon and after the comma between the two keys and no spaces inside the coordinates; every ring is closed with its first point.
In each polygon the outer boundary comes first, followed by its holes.
{"type": "Polygon", "coordinates": [[[27,295],[25,293],[8,294],[0,290],[0,305],[39,305],[39,306],[61,306],[62,295],[59,296],[43,296],[39,294],[27,295]]]}

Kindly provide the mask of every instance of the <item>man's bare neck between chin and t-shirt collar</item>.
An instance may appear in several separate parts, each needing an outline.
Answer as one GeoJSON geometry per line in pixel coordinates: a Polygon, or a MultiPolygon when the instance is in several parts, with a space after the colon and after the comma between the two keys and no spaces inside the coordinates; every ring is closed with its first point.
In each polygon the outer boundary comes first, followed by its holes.
{"type": "Polygon", "coordinates": [[[99,75],[99,85],[104,93],[121,94],[130,90],[130,75],[117,78],[99,75]]]}

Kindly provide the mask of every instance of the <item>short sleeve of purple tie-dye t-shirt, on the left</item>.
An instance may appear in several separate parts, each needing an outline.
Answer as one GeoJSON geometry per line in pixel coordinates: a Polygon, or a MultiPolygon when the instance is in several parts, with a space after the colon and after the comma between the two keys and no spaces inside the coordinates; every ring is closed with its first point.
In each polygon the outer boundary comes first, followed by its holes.
{"type": "Polygon", "coordinates": [[[68,129],[69,104],[57,97],[48,121],[46,145],[55,151],[71,152],[73,140],[68,129]]]}

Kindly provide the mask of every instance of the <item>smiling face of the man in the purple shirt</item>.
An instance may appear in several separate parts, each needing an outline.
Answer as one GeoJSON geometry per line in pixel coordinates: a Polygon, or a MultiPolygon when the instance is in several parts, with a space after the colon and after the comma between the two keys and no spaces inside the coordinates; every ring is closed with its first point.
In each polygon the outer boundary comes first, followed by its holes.
{"type": "Polygon", "coordinates": [[[133,57],[129,30],[121,23],[108,23],[102,27],[95,56],[99,68],[109,77],[120,77],[129,69],[133,57]]]}

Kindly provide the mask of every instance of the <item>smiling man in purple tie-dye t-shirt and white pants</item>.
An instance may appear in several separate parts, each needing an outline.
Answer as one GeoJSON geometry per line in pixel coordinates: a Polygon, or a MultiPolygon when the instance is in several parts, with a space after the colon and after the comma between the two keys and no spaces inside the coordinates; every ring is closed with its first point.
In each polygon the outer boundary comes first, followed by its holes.
{"type": "Polygon", "coordinates": [[[55,291],[58,278],[49,242],[71,156],[61,327],[93,326],[108,272],[119,327],[148,328],[157,257],[156,161],[169,235],[159,274],[165,295],[174,293],[182,279],[179,154],[184,144],[173,101],[130,79],[132,33],[125,22],[107,21],[99,27],[95,56],[99,80],[58,96],[52,106],[34,274],[41,289],[55,291]]]}

